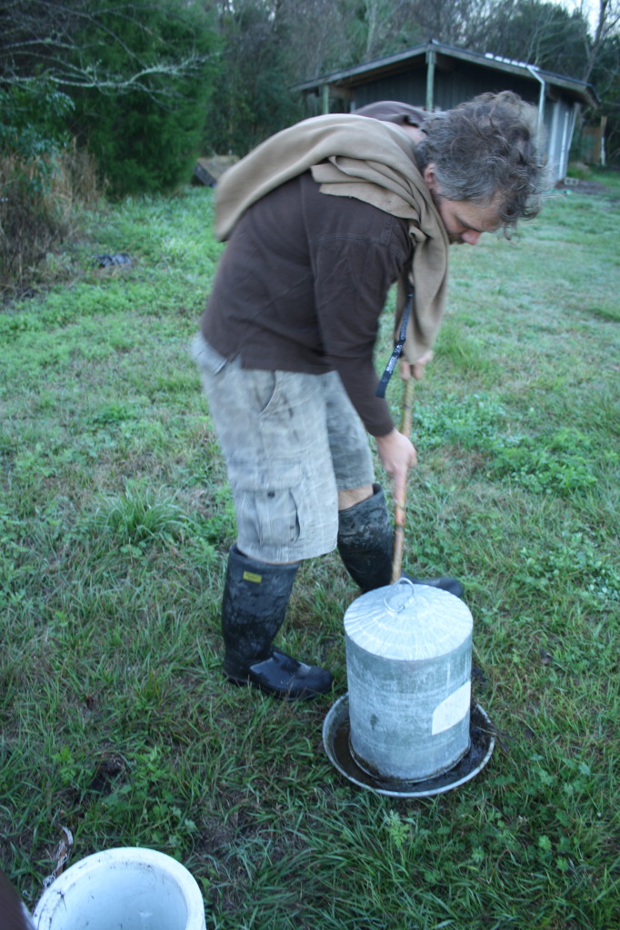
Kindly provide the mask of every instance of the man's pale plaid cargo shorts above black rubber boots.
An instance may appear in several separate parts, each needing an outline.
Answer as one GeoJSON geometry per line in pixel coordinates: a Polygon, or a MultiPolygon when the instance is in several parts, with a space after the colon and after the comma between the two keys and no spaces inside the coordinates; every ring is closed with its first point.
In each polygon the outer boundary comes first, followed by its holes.
{"type": "Polygon", "coordinates": [[[226,460],[238,548],[276,563],[332,551],[338,491],[374,481],[340,376],[242,368],[200,335],[193,354],[226,460]]]}

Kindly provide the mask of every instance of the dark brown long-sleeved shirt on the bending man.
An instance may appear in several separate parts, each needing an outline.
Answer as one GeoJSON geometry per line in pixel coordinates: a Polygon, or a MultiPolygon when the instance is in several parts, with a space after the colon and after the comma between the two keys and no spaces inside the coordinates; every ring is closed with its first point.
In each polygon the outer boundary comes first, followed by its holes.
{"type": "Polygon", "coordinates": [[[203,335],[246,368],[337,371],[368,432],[383,436],[394,424],[374,395],[373,350],[388,288],[411,254],[406,219],[320,193],[306,172],[236,223],[203,335]]]}

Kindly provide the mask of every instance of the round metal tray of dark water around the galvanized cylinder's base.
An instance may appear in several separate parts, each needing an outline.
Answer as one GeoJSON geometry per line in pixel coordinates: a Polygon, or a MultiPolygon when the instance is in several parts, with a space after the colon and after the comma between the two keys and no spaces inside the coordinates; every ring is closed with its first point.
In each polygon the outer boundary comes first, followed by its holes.
{"type": "Polygon", "coordinates": [[[359,788],[367,788],[377,794],[387,794],[394,798],[428,798],[434,794],[443,794],[464,785],[466,781],[478,775],[491,759],[495,746],[491,721],[479,704],[472,707],[469,713],[469,740],[469,750],[449,771],[425,781],[390,783],[365,772],[351,753],[348,694],[336,701],[323,723],[323,746],[330,763],[341,775],[359,788]]]}

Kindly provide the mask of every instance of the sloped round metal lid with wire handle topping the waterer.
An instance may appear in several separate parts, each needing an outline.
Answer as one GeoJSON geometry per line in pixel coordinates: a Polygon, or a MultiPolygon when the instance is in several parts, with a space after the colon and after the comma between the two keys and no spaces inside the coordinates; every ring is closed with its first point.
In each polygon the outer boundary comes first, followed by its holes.
{"type": "Polygon", "coordinates": [[[458,597],[407,578],[362,594],[344,614],[344,632],[355,644],[402,661],[444,656],[471,636],[472,627],[458,597]]]}

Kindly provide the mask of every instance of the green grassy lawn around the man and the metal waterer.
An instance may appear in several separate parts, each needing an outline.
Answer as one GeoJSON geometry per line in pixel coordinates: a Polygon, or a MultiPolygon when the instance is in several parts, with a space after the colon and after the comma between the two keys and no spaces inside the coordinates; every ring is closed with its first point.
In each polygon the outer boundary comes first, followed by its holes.
{"type": "Polygon", "coordinates": [[[335,553],[303,565],[280,640],[333,694],[222,680],[234,513],[189,354],[212,193],[93,215],[69,279],[0,312],[0,864],[31,909],[66,827],[73,861],[178,857],[209,930],[620,925],[620,179],[600,179],[515,242],[452,250],[405,566],[465,582],[501,739],[434,798],[359,790],[323,751],[357,597],[335,553]],[[93,263],[115,252],[131,266],[93,263]]]}

